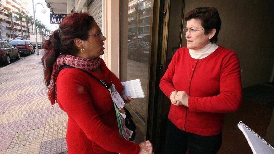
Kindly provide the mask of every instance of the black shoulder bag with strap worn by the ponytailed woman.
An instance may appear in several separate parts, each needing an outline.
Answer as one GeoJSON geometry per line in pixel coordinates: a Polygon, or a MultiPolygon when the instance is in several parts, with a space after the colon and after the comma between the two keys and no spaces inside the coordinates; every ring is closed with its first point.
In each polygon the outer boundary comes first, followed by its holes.
{"type": "MultiPolygon", "coordinates": [[[[73,66],[70,66],[70,65],[64,65],[60,68],[59,71],[61,71],[61,69],[63,68],[74,68],[73,66]]],[[[80,69],[80,68],[78,68],[80,69]]],[[[102,85],[104,85],[108,90],[111,88],[111,86],[109,86],[104,80],[99,80],[97,77],[95,77],[94,75],[92,75],[91,73],[87,72],[86,70],[83,70],[83,69],[80,69],[82,70],[83,72],[87,73],[89,76],[93,77],[94,79],[96,79],[98,82],[100,82],[102,85]]],[[[116,105],[114,103],[114,105],[116,105]]],[[[115,108],[117,108],[117,106],[115,106],[115,108]]],[[[129,129],[130,131],[132,131],[132,135],[131,135],[131,138],[125,138],[120,130],[120,126],[119,126],[119,132],[120,132],[120,136],[121,137],[124,137],[125,139],[129,140],[129,141],[133,141],[135,136],[136,136],[136,125],[134,124],[133,120],[132,120],[132,116],[130,114],[130,112],[125,108],[123,107],[124,111],[125,111],[125,115],[126,115],[126,118],[125,118],[125,127],[127,129],[129,129]]],[[[116,109],[115,109],[116,110],[116,109]]],[[[117,111],[116,111],[117,113],[117,111]]],[[[116,114],[117,116],[117,114],[116,114]]],[[[120,123],[118,121],[118,117],[117,117],[117,122],[120,123]]]]}

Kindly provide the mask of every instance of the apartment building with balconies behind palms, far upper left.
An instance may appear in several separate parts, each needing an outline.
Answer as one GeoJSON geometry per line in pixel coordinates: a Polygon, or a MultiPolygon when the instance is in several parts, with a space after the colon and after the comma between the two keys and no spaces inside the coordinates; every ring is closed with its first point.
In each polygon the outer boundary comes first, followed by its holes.
{"type": "MultiPolygon", "coordinates": [[[[1,22],[1,33],[2,35],[6,35],[7,38],[12,38],[12,27],[11,27],[11,19],[8,15],[8,12],[19,12],[20,10],[25,13],[29,13],[26,6],[28,6],[28,0],[1,0],[0,4],[0,22],[1,22]]],[[[23,36],[21,36],[21,27],[20,21],[16,21],[14,16],[17,14],[12,13],[12,21],[14,25],[15,37],[24,37],[28,36],[28,30],[26,26],[26,22],[22,22],[23,26],[23,36]]],[[[32,27],[29,27],[29,33],[32,34],[32,27]]]]}

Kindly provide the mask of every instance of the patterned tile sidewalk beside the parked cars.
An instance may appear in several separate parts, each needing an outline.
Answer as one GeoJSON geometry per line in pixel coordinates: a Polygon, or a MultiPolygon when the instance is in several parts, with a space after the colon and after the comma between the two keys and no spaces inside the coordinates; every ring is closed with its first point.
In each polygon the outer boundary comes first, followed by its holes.
{"type": "Polygon", "coordinates": [[[0,154],[67,152],[68,117],[47,99],[42,55],[0,69],[0,154]]]}

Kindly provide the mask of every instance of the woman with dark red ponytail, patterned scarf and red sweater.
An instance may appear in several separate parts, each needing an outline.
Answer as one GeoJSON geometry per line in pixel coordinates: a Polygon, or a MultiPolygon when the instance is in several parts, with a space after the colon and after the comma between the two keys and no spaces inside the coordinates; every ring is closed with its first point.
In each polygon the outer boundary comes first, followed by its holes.
{"type": "Polygon", "coordinates": [[[122,94],[121,82],[99,57],[104,54],[105,40],[92,16],[73,13],[64,18],[44,46],[42,63],[48,97],[69,117],[68,153],[150,154],[149,141],[138,145],[120,137],[110,92],[84,72],[114,84],[125,101],[132,100],[122,94]],[[60,69],[63,65],[73,68],[60,69]]]}

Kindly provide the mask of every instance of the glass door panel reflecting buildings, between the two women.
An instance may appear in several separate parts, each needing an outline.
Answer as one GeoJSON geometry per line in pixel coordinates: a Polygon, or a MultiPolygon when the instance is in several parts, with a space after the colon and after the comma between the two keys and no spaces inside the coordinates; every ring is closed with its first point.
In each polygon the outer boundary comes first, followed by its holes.
{"type": "Polygon", "coordinates": [[[137,126],[135,142],[145,138],[148,104],[149,57],[151,54],[152,0],[121,1],[121,53],[120,79],[140,79],[144,98],[135,98],[126,107],[130,110],[137,126]]]}

